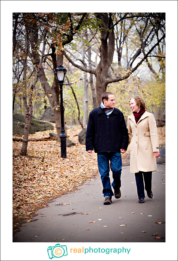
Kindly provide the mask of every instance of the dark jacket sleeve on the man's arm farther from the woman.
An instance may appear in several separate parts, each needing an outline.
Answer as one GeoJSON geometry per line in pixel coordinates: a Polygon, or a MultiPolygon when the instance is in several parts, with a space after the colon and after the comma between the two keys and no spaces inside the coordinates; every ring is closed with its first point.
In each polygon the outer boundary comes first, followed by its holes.
{"type": "Polygon", "coordinates": [[[95,121],[90,112],[87,123],[87,131],[85,136],[86,151],[93,151],[95,141],[95,121]]]}

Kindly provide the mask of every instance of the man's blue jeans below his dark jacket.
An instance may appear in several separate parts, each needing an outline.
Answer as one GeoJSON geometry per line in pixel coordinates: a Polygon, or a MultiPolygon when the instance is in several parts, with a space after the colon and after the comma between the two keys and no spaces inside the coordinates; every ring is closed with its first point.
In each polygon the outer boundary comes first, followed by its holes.
{"type": "Polygon", "coordinates": [[[104,197],[112,198],[114,193],[112,191],[111,185],[114,190],[121,187],[121,170],[122,170],[122,159],[120,152],[108,152],[108,153],[98,153],[98,169],[101,175],[101,181],[103,185],[103,195],[104,197]],[[113,182],[110,183],[109,178],[109,160],[110,167],[113,172],[113,182]]]}

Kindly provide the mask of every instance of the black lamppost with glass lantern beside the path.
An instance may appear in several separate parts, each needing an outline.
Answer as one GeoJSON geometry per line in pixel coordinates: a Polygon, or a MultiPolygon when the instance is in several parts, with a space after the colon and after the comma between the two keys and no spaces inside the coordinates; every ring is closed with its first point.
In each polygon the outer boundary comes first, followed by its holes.
{"type": "Polygon", "coordinates": [[[66,75],[67,70],[64,68],[64,66],[58,66],[55,70],[55,75],[59,84],[59,90],[60,90],[60,100],[61,100],[61,135],[59,136],[61,138],[61,158],[67,158],[67,152],[66,152],[66,138],[65,135],[65,129],[64,129],[64,109],[63,109],[63,97],[62,97],[62,86],[64,84],[64,78],[66,75]]]}

